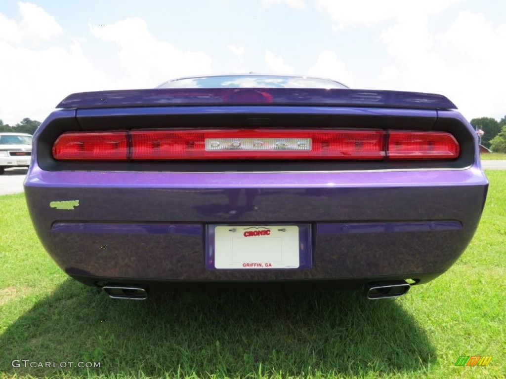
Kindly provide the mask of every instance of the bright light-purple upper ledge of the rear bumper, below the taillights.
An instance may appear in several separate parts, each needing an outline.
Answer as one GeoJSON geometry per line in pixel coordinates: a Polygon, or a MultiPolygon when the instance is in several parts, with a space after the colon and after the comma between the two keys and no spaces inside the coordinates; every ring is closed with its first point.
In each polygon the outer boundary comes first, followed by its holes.
{"type": "Polygon", "coordinates": [[[477,165],[466,170],[342,172],[105,172],[44,171],[33,166],[26,186],[73,188],[377,188],[483,185],[477,165]]]}

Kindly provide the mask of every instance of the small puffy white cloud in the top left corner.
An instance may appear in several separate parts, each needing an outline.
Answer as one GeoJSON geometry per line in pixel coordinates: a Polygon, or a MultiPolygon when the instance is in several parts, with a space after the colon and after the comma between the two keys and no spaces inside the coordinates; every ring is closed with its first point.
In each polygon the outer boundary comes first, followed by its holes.
{"type": "Polygon", "coordinates": [[[60,24],[44,9],[32,3],[18,2],[21,21],[9,20],[0,13],[0,41],[20,44],[26,40],[49,40],[63,32],[60,24]]]}

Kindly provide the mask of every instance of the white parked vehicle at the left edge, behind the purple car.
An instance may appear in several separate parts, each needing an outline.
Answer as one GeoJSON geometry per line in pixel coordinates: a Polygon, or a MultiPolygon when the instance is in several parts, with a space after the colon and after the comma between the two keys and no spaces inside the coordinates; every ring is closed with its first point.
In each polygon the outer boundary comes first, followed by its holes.
{"type": "Polygon", "coordinates": [[[29,167],[32,136],[25,133],[0,133],[0,175],[8,167],[29,167]]]}

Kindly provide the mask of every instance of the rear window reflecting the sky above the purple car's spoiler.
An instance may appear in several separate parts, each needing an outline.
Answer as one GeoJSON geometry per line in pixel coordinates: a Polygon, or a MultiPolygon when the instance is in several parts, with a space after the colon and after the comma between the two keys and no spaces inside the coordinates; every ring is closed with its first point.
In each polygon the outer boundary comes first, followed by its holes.
{"type": "Polygon", "coordinates": [[[157,88],[348,88],[329,79],[304,76],[225,75],[182,78],[167,81],[157,88]]]}

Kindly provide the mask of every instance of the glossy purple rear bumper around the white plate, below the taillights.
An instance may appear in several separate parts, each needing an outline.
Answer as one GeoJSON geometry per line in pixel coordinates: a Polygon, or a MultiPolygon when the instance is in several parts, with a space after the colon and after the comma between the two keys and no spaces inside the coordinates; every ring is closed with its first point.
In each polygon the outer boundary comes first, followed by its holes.
{"type": "Polygon", "coordinates": [[[355,287],[385,279],[424,282],[446,271],[475,233],[487,187],[477,166],[312,173],[32,167],[25,194],[46,250],[65,272],[87,284],[199,286],[232,280],[355,287]],[[50,207],[76,200],[73,210],[50,207]],[[230,214],[232,208],[236,212],[230,214]],[[310,225],[311,268],[206,269],[209,224],[273,223],[310,225]]]}

